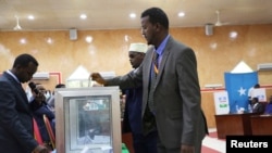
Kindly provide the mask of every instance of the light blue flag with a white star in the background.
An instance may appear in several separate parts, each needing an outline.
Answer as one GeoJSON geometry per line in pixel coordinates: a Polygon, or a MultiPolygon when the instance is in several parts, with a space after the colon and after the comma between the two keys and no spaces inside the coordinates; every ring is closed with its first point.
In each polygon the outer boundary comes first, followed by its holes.
{"type": "Polygon", "coordinates": [[[230,112],[236,113],[236,106],[248,111],[248,90],[258,84],[258,73],[225,73],[225,89],[228,93],[230,112]]]}

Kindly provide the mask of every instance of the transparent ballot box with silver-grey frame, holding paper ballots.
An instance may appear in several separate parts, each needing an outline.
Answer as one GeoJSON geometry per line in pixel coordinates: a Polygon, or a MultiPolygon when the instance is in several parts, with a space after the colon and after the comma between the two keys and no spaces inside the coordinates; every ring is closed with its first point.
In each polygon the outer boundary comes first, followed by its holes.
{"type": "Polygon", "coordinates": [[[121,153],[118,87],[55,90],[57,153],[121,153]]]}

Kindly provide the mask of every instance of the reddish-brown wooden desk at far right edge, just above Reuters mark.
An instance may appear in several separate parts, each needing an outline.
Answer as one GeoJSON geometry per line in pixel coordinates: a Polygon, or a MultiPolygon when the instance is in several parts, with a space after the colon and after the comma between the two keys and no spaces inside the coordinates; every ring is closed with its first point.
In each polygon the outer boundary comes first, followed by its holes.
{"type": "Polygon", "coordinates": [[[272,135],[272,115],[254,115],[250,124],[252,135],[272,135]]]}

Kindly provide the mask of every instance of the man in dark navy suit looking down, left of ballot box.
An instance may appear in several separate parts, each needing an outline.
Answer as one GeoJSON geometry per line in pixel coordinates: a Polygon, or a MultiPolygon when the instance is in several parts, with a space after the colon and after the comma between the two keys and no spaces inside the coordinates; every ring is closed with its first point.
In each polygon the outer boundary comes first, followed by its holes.
{"type": "Polygon", "coordinates": [[[32,79],[38,62],[18,55],[12,69],[0,77],[0,151],[5,153],[49,153],[34,138],[33,114],[21,82],[32,79]]]}

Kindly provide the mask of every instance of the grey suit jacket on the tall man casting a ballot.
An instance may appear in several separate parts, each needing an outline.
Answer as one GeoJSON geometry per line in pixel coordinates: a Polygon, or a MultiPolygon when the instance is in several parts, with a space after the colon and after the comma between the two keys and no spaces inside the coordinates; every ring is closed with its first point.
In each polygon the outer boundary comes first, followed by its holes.
{"type": "MultiPolygon", "coordinates": [[[[121,89],[138,87],[143,82],[143,110],[147,107],[152,50],[147,51],[135,75],[127,74],[108,80],[109,86],[119,85],[121,89]]],[[[162,144],[166,148],[177,148],[181,143],[199,145],[207,133],[207,123],[201,112],[194,51],[170,37],[156,81],[156,123],[162,144]]],[[[149,129],[144,130],[148,132],[149,129]]]]}

